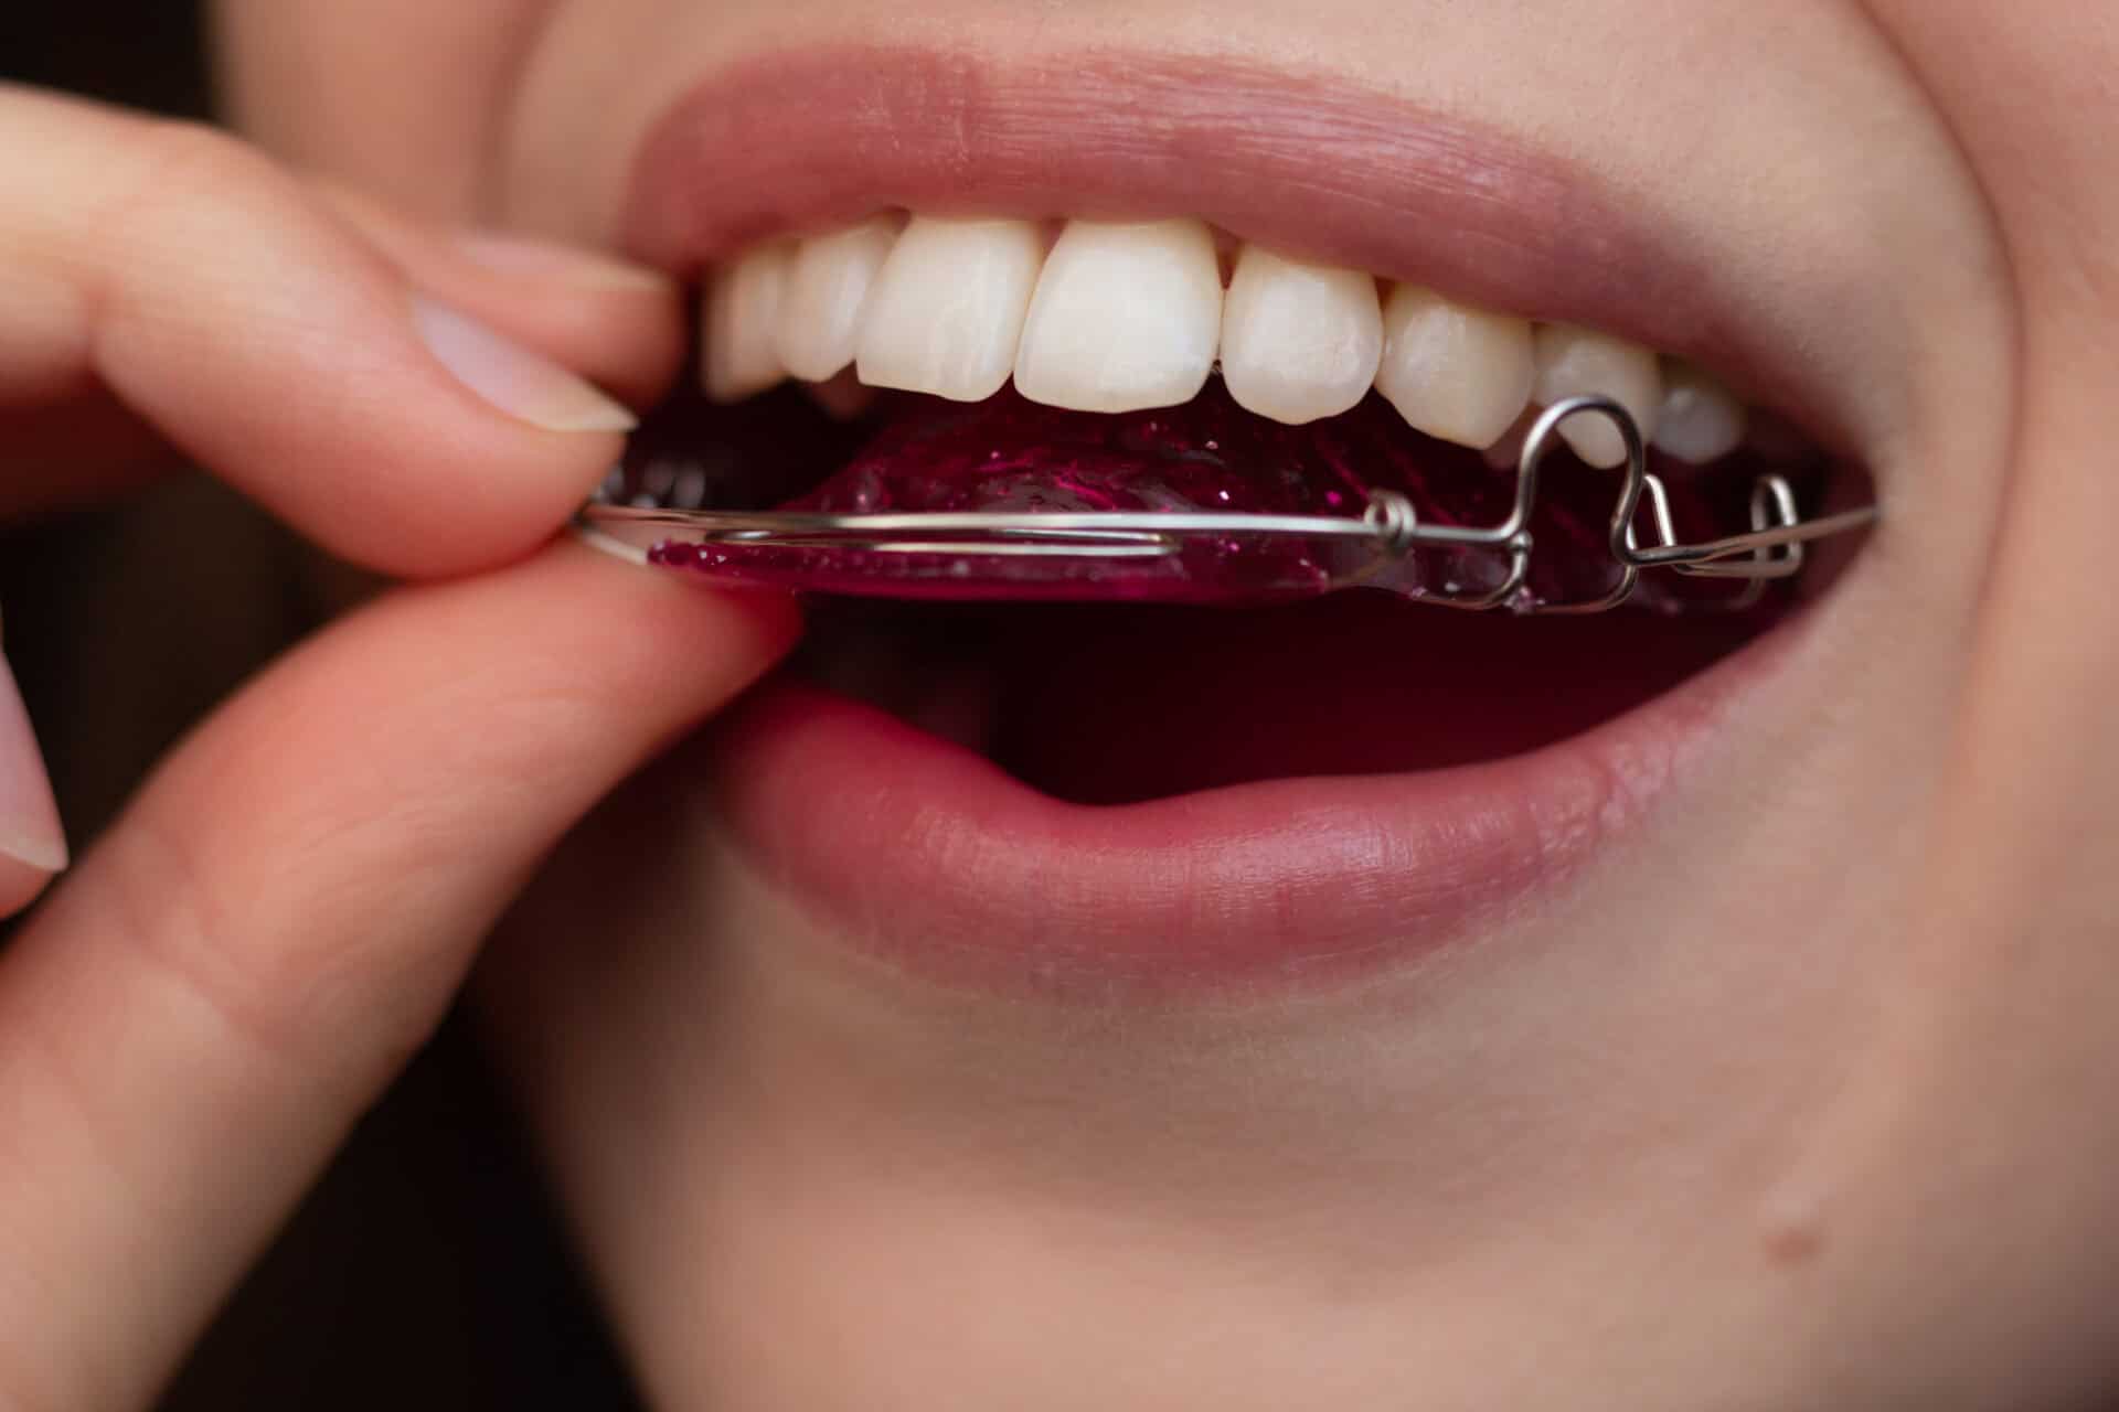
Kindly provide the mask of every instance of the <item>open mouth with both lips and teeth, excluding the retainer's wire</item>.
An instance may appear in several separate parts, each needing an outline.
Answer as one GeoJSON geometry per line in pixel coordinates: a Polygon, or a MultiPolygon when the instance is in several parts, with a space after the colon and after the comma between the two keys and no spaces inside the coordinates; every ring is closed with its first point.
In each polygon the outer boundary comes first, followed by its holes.
{"type": "MultiPolygon", "coordinates": [[[[720,76],[644,150],[631,243],[697,279],[699,368],[610,502],[1286,517],[1390,491],[1479,525],[1579,396],[1634,419],[1687,538],[1742,529],[1767,474],[1805,506],[1869,497],[1801,349],[1534,152],[1432,114],[1333,125],[1284,76],[1134,68],[1127,110],[1159,121],[1098,165],[1110,131],[1032,131],[992,74],[801,64],[720,76]],[[786,93],[824,78],[860,85],[873,133],[805,127],[786,93]],[[1290,97],[1297,131],[1396,186],[1356,195],[1331,150],[1290,165],[1290,97]]],[[[1627,449],[1596,419],[1560,436],[1530,589],[1593,601],[1627,449]]],[[[1844,567],[1765,595],[1644,576],[1649,612],[1517,618],[1420,601],[1502,578],[1481,553],[1337,593],[1305,544],[1000,582],[951,555],[651,561],[814,591],[720,749],[767,876],[918,972],[1100,995],[1341,978],[1564,887],[1706,768],[1844,567]]]]}

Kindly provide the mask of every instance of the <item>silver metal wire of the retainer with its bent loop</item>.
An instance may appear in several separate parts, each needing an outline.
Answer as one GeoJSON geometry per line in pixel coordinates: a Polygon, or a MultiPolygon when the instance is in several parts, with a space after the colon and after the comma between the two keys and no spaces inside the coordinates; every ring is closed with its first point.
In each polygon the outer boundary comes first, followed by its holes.
{"type": "Polygon", "coordinates": [[[879,555],[979,555],[1019,559],[1161,559],[1182,553],[1197,538],[1301,538],[1365,542],[1384,559],[1403,559],[1420,548],[1498,550],[1509,572],[1498,586],[1481,593],[1424,593],[1420,601],[1443,608],[1509,608],[1530,614],[1596,614],[1619,608],[1640,586],[1644,569],[1672,569],[1693,578],[1744,580],[1731,608],[1759,601],[1765,586],[1803,572],[1805,544],[1852,533],[1877,519],[1875,506],[1803,519],[1795,489],[1778,474],[1761,476],[1750,495],[1750,529],[1699,544],[1678,542],[1670,514],[1670,491],[1649,470],[1649,451],[1634,417],[1613,398],[1587,396],[1555,402],[1530,428],[1515,466],[1515,497],[1498,525],[1428,525],[1413,502],[1399,491],[1373,491],[1363,514],[1235,514],[1191,510],[968,510],[826,514],[814,510],[665,510],[648,506],[589,504],[581,512],[583,536],[629,559],[644,559],[646,542],[682,538],[693,544],[839,548],[879,555]],[[1596,415],[1610,421],[1625,442],[1625,474],[1610,514],[1610,557],[1619,580],[1604,597],[1589,601],[1545,601],[1528,595],[1530,533],[1538,504],[1545,459],[1562,445],[1560,430],[1572,417],[1596,415]],[[1646,502],[1651,542],[1642,544],[1638,521],[1646,502]]]}

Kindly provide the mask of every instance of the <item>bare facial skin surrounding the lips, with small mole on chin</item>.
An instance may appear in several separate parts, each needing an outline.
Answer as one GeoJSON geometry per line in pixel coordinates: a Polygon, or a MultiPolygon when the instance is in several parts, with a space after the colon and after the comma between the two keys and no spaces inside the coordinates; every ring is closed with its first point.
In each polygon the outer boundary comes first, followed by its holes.
{"type": "Polygon", "coordinates": [[[818,47],[987,74],[1244,64],[1477,121],[1721,271],[1877,478],[1886,531],[1674,800],[1477,944],[1354,986],[932,984],[729,840],[714,741],[612,800],[483,991],[657,1406],[2119,1389],[2104,6],[225,0],[220,21],[235,116],[278,152],[606,246],[663,110],[818,47]]]}

